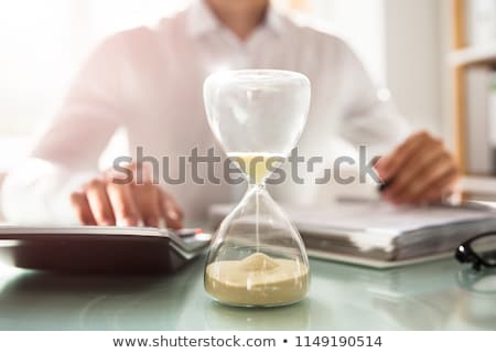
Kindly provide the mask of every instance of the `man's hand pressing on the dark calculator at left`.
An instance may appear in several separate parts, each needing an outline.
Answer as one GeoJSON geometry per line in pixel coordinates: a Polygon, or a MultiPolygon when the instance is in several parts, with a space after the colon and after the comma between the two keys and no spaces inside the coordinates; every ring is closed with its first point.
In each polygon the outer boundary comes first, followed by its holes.
{"type": "MultiPolygon", "coordinates": [[[[129,167],[136,175],[136,165],[129,167]]],[[[111,172],[90,180],[80,192],[71,195],[82,224],[158,227],[164,220],[170,228],[182,227],[183,213],[172,196],[149,178],[142,183],[119,183],[111,172]]]]}

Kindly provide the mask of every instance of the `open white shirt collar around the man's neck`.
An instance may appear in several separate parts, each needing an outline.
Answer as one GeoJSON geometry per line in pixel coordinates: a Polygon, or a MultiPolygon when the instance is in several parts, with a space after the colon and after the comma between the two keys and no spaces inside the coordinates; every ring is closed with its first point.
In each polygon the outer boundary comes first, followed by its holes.
{"type": "MultiPolygon", "coordinates": [[[[284,30],[283,24],[282,14],[272,4],[269,4],[265,22],[261,25],[280,35],[284,30]]],[[[186,11],[186,32],[193,38],[200,38],[220,28],[223,24],[205,3],[205,0],[194,0],[186,11]]]]}

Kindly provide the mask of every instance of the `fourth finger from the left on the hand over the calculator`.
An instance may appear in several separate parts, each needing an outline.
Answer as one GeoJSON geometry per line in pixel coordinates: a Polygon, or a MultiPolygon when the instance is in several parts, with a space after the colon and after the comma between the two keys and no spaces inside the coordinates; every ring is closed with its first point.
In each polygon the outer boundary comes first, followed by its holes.
{"type": "Polygon", "coordinates": [[[144,225],[158,227],[162,217],[159,188],[151,183],[136,184],[133,194],[144,225]]]}

